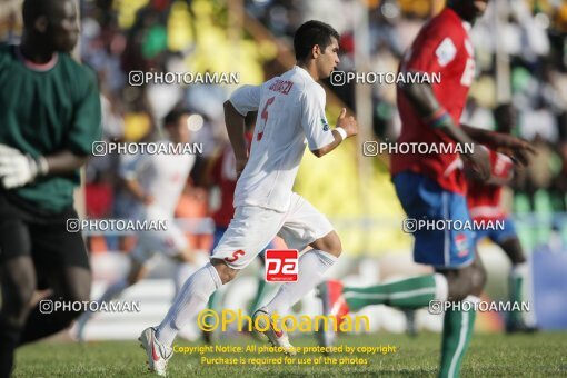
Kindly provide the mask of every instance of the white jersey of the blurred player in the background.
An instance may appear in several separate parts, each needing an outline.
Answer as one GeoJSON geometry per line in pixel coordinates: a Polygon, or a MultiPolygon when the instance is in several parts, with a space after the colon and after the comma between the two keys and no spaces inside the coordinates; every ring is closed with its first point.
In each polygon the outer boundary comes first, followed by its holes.
{"type": "MultiPolygon", "coordinates": [[[[166,217],[173,218],[179,196],[193,165],[193,155],[138,153],[123,156],[120,159],[119,175],[123,179],[136,179],[143,192],[153,197],[152,205],[157,206],[166,217]]],[[[137,203],[143,207],[139,201],[137,203]]]]}

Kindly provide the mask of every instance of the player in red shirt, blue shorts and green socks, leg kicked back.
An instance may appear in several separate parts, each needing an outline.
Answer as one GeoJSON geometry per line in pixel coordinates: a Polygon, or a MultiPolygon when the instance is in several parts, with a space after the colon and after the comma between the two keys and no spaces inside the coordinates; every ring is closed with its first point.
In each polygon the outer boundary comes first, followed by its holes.
{"type": "MultiPolygon", "coordinates": [[[[470,221],[466,201],[462,160],[480,180],[490,166],[478,143],[505,147],[523,162],[529,145],[508,135],[460,126],[459,119],[475,76],[470,24],[486,10],[488,0],[450,0],[420,30],[400,63],[401,72],[441,74],[441,82],[398,84],[401,117],[399,142],[472,145],[469,153],[392,155],[390,171],[396,193],[409,218],[470,221]]],[[[455,149],[454,149],[455,150],[455,149]]],[[[465,150],[465,149],[462,149],[465,150]]],[[[466,150],[465,150],[466,151],[466,150]]],[[[419,308],[429,301],[478,302],[486,273],[475,249],[472,230],[416,230],[414,259],[432,266],[436,273],[366,288],[342,288],[337,281],[319,287],[327,314],[341,316],[368,305],[419,308]]],[[[469,308],[469,307],[467,307],[469,308]]],[[[475,311],[449,308],[445,312],[441,377],[456,377],[467,350],[475,311]]],[[[320,342],[332,342],[332,332],[321,332],[320,342]]]]}

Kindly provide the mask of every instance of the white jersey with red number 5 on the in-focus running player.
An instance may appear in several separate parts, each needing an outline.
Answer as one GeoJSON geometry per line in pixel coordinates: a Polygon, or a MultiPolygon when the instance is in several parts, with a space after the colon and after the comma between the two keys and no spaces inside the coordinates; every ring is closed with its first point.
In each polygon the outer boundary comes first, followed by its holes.
{"type": "Polygon", "coordinates": [[[261,86],[245,86],[230,97],[246,115],[258,110],[250,156],[235,190],[235,207],[287,211],[305,152],[335,140],[325,117],[325,90],[295,66],[261,86]]]}

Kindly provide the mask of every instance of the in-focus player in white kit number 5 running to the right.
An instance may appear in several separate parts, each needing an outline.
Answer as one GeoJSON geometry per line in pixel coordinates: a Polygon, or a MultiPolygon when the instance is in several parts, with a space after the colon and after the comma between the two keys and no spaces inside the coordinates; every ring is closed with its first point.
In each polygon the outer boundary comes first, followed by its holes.
{"type": "MultiPolygon", "coordinates": [[[[296,32],[297,66],[261,86],[243,86],[225,102],[225,120],[240,175],[235,191],[235,217],[211,256],[192,275],[157,327],[140,336],[150,370],[166,374],[177,332],[202,310],[209,296],[232,280],[277,235],[291,249],[312,249],[299,258],[296,282],[282,284],[273,299],[258,311],[284,314],[314,289],[341,252],[337,232],[327,218],[292,192],[306,145],[317,157],[332,151],[357,133],[354,117],[342,109],[331,130],[325,116],[325,90],[317,83],[339,63],[339,34],[330,26],[308,21],[296,32]],[[258,111],[247,153],[245,116],[258,111]]],[[[257,312],[258,312],[257,311],[257,312]]],[[[295,354],[285,331],[273,325],[263,332],[288,354],[295,354]]]]}

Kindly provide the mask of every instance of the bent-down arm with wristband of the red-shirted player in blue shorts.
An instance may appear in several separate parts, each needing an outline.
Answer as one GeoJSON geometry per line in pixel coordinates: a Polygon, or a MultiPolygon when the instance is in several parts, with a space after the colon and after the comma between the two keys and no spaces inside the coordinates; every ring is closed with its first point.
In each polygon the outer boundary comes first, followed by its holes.
{"type": "MultiPolygon", "coordinates": [[[[451,116],[441,107],[431,86],[422,81],[421,83],[418,82],[402,84],[400,89],[421,119],[429,127],[439,130],[459,145],[474,145],[474,139],[465,130],[456,126],[451,116]]],[[[468,151],[466,148],[462,150],[468,151]]],[[[462,153],[462,157],[475,167],[476,173],[483,181],[490,178],[490,162],[485,149],[476,145],[472,148],[472,152],[462,153]]]]}

